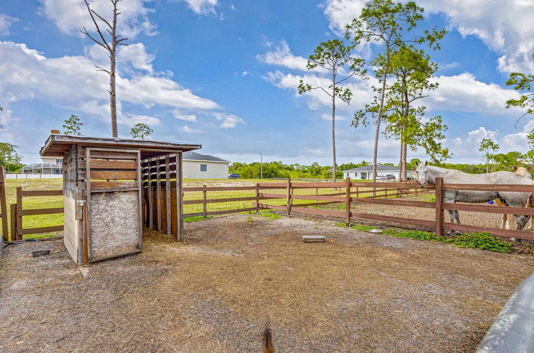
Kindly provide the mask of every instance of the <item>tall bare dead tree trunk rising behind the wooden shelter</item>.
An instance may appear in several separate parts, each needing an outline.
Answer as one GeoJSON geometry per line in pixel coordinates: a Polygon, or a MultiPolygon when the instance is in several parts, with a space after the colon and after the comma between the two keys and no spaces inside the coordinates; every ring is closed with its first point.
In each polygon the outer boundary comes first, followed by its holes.
{"type": "Polygon", "coordinates": [[[109,52],[109,70],[106,70],[104,68],[101,68],[100,66],[95,65],[97,68],[97,71],[104,71],[109,75],[109,107],[111,108],[111,133],[113,137],[117,136],[117,104],[116,104],[116,91],[115,91],[115,52],[117,50],[117,46],[119,45],[128,45],[125,43],[122,43],[124,41],[127,41],[128,38],[121,38],[121,35],[117,35],[117,16],[120,15],[120,12],[117,12],[117,3],[121,0],[111,0],[111,3],[113,4],[113,21],[112,23],[109,23],[104,17],[100,16],[98,13],[95,12],[95,10],[92,10],[89,6],[89,3],[87,0],[85,1],[85,5],[87,6],[87,11],[89,11],[89,15],[91,16],[91,19],[93,20],[93,23],[95,23],[95,27],[97,29],[97,33],[100,36],[100,40],[97,38],[91,36],[87,29],[83,27],[82,33],[86,34],[89,38],[92,39],[93,42],[99,44],[101,47],[103,47],[105,50],[109,52]],[[100,26],[98,26],[98,22],[95,19],[95,16],[98,17],[102,22],[104,22],[104,26],[107,26],[109,28],[106,28],[107,33],[111,35],[111,41],[107,40],[102,31],[100,30],[100,26]],[[111,45],[109,44],[111,42],[111,45]]]}

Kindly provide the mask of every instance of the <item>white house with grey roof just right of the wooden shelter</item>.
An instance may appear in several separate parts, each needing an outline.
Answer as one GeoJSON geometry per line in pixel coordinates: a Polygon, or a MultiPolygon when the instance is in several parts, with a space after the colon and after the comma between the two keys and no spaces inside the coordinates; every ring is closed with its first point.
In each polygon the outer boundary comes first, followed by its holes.
{"type": "Polygon", "coordinates": [[[196,152],[184,152],[183,177],[193,179],[227,179],[229,161],[196,152]]]}

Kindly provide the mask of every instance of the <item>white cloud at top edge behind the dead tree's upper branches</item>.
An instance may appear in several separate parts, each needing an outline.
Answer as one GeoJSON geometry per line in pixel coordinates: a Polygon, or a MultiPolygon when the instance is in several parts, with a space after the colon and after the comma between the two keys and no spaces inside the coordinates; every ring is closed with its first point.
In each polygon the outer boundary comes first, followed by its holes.
{"type": "MultiPolygon", "coordinates": [[[[89,31],[96,31],[87,6],[83,1],[73,0],[40,0],[41,13],[54,23],[64,33],[78,34],[85,27],[89,31]]],[[[155,35],[158,32],[153,23],[148,19],[148,14],[154,10],[145,7],[145,3],[150,0],[128,0],[121,1],[117,9],[121,14],[117,20],[117,34],[124,37],[133,38],[139,33],[155,35]]],[[[95,10],[105,19],[111,19],[113,6],[109,0],[93,0],[90,2],[91,9],[95,10]]],[[[100,26],[100,25],[99,25],[100,26]]],[[[105,26],[105,25],[104,25],[105,26]]],[[[104,27],[101,27],[104,30],[104,27]]]]}

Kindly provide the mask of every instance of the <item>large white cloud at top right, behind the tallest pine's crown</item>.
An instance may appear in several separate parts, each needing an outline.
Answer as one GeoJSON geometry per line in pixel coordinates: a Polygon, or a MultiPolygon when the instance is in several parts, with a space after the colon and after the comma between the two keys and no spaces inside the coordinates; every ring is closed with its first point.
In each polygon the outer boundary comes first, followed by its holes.
{"type": "MultiPolygon", "coordinates": [[[[403,3],[406,0],[402,1],[403,3]]],[[[358,18],[365,0],[326,0],[324,13],[330,28],[344,34],[344,27],[358,18]]],[[[500,71],[534,72],[534,2],[530,0],[419,0],[425,13],[443,13],[449,29],[462,36],[481,39],[492,51],[500,54],[500,71]]]]}

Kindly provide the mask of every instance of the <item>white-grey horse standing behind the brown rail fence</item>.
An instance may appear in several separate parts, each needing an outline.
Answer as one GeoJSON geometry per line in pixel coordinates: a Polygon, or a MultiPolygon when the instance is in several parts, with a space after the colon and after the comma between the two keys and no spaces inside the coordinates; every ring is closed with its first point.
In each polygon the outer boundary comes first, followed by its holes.
{"type": "MultiPolygon", "coordinates": [[[[417,181],[421,187],[428,183],[435,183],[436,178],[443,178],[444,183],[452,184],[521,184],[534,185],[534,181],[516,173],[499,171],[486,174],[467,174],[458,170],[429,166],[428,162],[418,163],[415,169],[417,181]]],[[[532,192],[514,191],[477,191],[477,190],[446,190],[443,193],[445,203],[484,203],[499,199],[506,206],[522,207],[527,204],[532,192]]],[[[460,215],[457,210],[448,210],[451,223],[460,224],[460,215]]],[[[528,215],[514,215],[515,227],[522,230],[530,219],[528,215]]]]}

